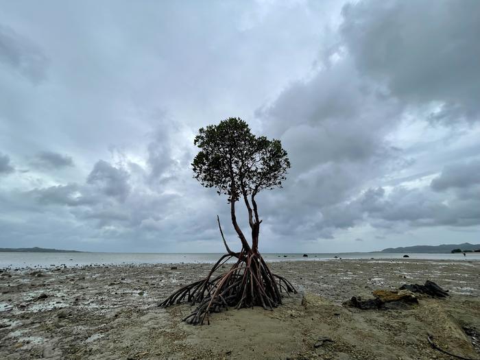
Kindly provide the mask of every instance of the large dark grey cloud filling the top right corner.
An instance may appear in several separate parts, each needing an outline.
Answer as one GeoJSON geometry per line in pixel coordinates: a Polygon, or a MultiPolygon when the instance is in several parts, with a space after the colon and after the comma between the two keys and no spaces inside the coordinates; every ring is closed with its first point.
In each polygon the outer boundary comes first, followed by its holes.
{"type": "Polygon", "coordinates": [[[341,34],[361,73],[392,95],[437,104],[431,119],[480,119],[480,3],[360,1],[342,10],[341,34]]]}

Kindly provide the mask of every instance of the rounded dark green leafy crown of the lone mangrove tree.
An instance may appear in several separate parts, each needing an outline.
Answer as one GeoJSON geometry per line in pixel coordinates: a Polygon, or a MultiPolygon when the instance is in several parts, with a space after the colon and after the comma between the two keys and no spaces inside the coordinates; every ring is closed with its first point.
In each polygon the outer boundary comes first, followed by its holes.
{"type": "Polygon", "coordinates": [[[228,195],[228,202],[241,194],[254,197],[261,190],[282,187],[290,167],[280,140],[255,136],[236,117],[201,128],[194,144],[200,148],[192,163],[194,177],[228,195]]]}

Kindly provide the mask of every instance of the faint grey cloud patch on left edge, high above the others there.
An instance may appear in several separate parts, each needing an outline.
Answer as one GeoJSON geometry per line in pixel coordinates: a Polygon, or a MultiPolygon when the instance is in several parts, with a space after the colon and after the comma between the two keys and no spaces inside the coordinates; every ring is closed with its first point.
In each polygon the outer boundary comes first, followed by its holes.
{"type": "Polygon", "coordinates": [[[0,62],[37,84],[45,79],[48,60],[29,39],[0,24],[0,62]]]}

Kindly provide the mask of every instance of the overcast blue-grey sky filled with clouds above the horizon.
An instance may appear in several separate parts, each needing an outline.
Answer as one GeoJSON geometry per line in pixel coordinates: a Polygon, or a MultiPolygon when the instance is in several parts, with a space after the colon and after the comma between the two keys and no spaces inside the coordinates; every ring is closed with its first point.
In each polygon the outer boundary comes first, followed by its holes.
{"type": "Polygon", "coordinates": [[[227,117],[291,160],[259,195],[263,252],[480,243],[479,19],[477,0],[1,0],[0,247],[222,252],[217,214],[238,247],[190,165],[227,117]]]}

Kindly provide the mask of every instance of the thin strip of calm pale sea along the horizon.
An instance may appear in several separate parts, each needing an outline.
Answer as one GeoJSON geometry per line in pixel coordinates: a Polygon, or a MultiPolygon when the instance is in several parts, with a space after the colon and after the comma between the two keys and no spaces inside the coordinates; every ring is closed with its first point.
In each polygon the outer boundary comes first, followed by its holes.
{"type": "MultiPolygon", "coordinates": [[[[0,267],[49,267],[51,265],[101,265],[101,264],[169,264],[215,263],[222,254],[155,254],[119,252],[0,252],[0,267]]],[[[339,256],[342,259],[401,259],[403,254],[348,252],[334,254],[263,254],[267,261],[326,261],[339,256]],[[287,257],[284,257],[287,255],[287,257]]],[[[480,253],[463,254],[409,254],[410,259],[480,261],[480,253]]]]}

